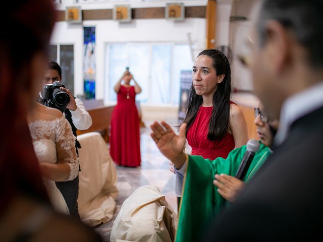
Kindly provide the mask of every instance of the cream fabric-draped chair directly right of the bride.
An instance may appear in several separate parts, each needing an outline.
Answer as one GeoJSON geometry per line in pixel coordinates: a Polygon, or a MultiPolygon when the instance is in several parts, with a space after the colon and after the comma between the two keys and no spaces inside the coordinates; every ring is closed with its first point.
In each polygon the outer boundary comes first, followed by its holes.
{"type": "Polygon", "coordinates": [[[99,133],[77,137],[79,149],[79,213],[90,226],[112,219],[118,196],[117,171],[109,149],[99,133]]]}

